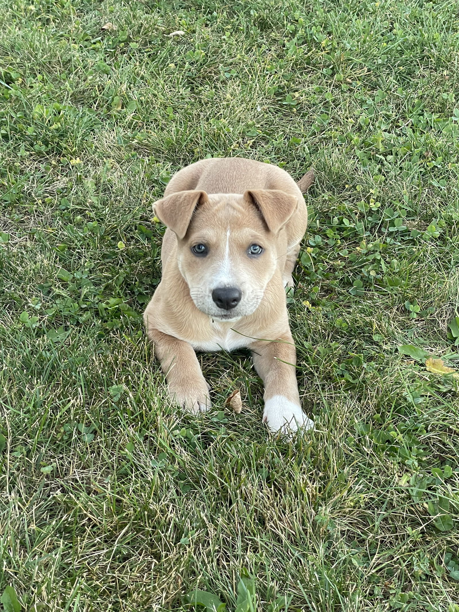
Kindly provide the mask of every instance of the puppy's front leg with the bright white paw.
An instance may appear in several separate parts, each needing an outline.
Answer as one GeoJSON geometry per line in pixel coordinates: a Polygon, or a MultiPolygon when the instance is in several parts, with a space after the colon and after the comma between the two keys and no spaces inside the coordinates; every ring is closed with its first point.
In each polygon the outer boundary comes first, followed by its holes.
{"type": "Polygon", "coordinates": [[[250,346],[253,364],[264,383],[263,421],[271,431],[289,433],[314,423],[301,409],[295,375],[296,349],[287,332],[274,341],[258,340],[250,346]]]}

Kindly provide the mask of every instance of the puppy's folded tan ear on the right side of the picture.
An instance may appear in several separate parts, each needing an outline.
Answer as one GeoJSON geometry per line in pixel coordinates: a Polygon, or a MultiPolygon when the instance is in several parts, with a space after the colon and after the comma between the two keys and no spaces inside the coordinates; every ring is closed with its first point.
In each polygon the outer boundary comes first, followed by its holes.
{"type": "Polygon", "coordinates": [[[269,230],[274,233],[288,222],[298,204],[296,196],[278,189],[251,189],[244,193],[244,200],[258,208],[269,230]]]}

